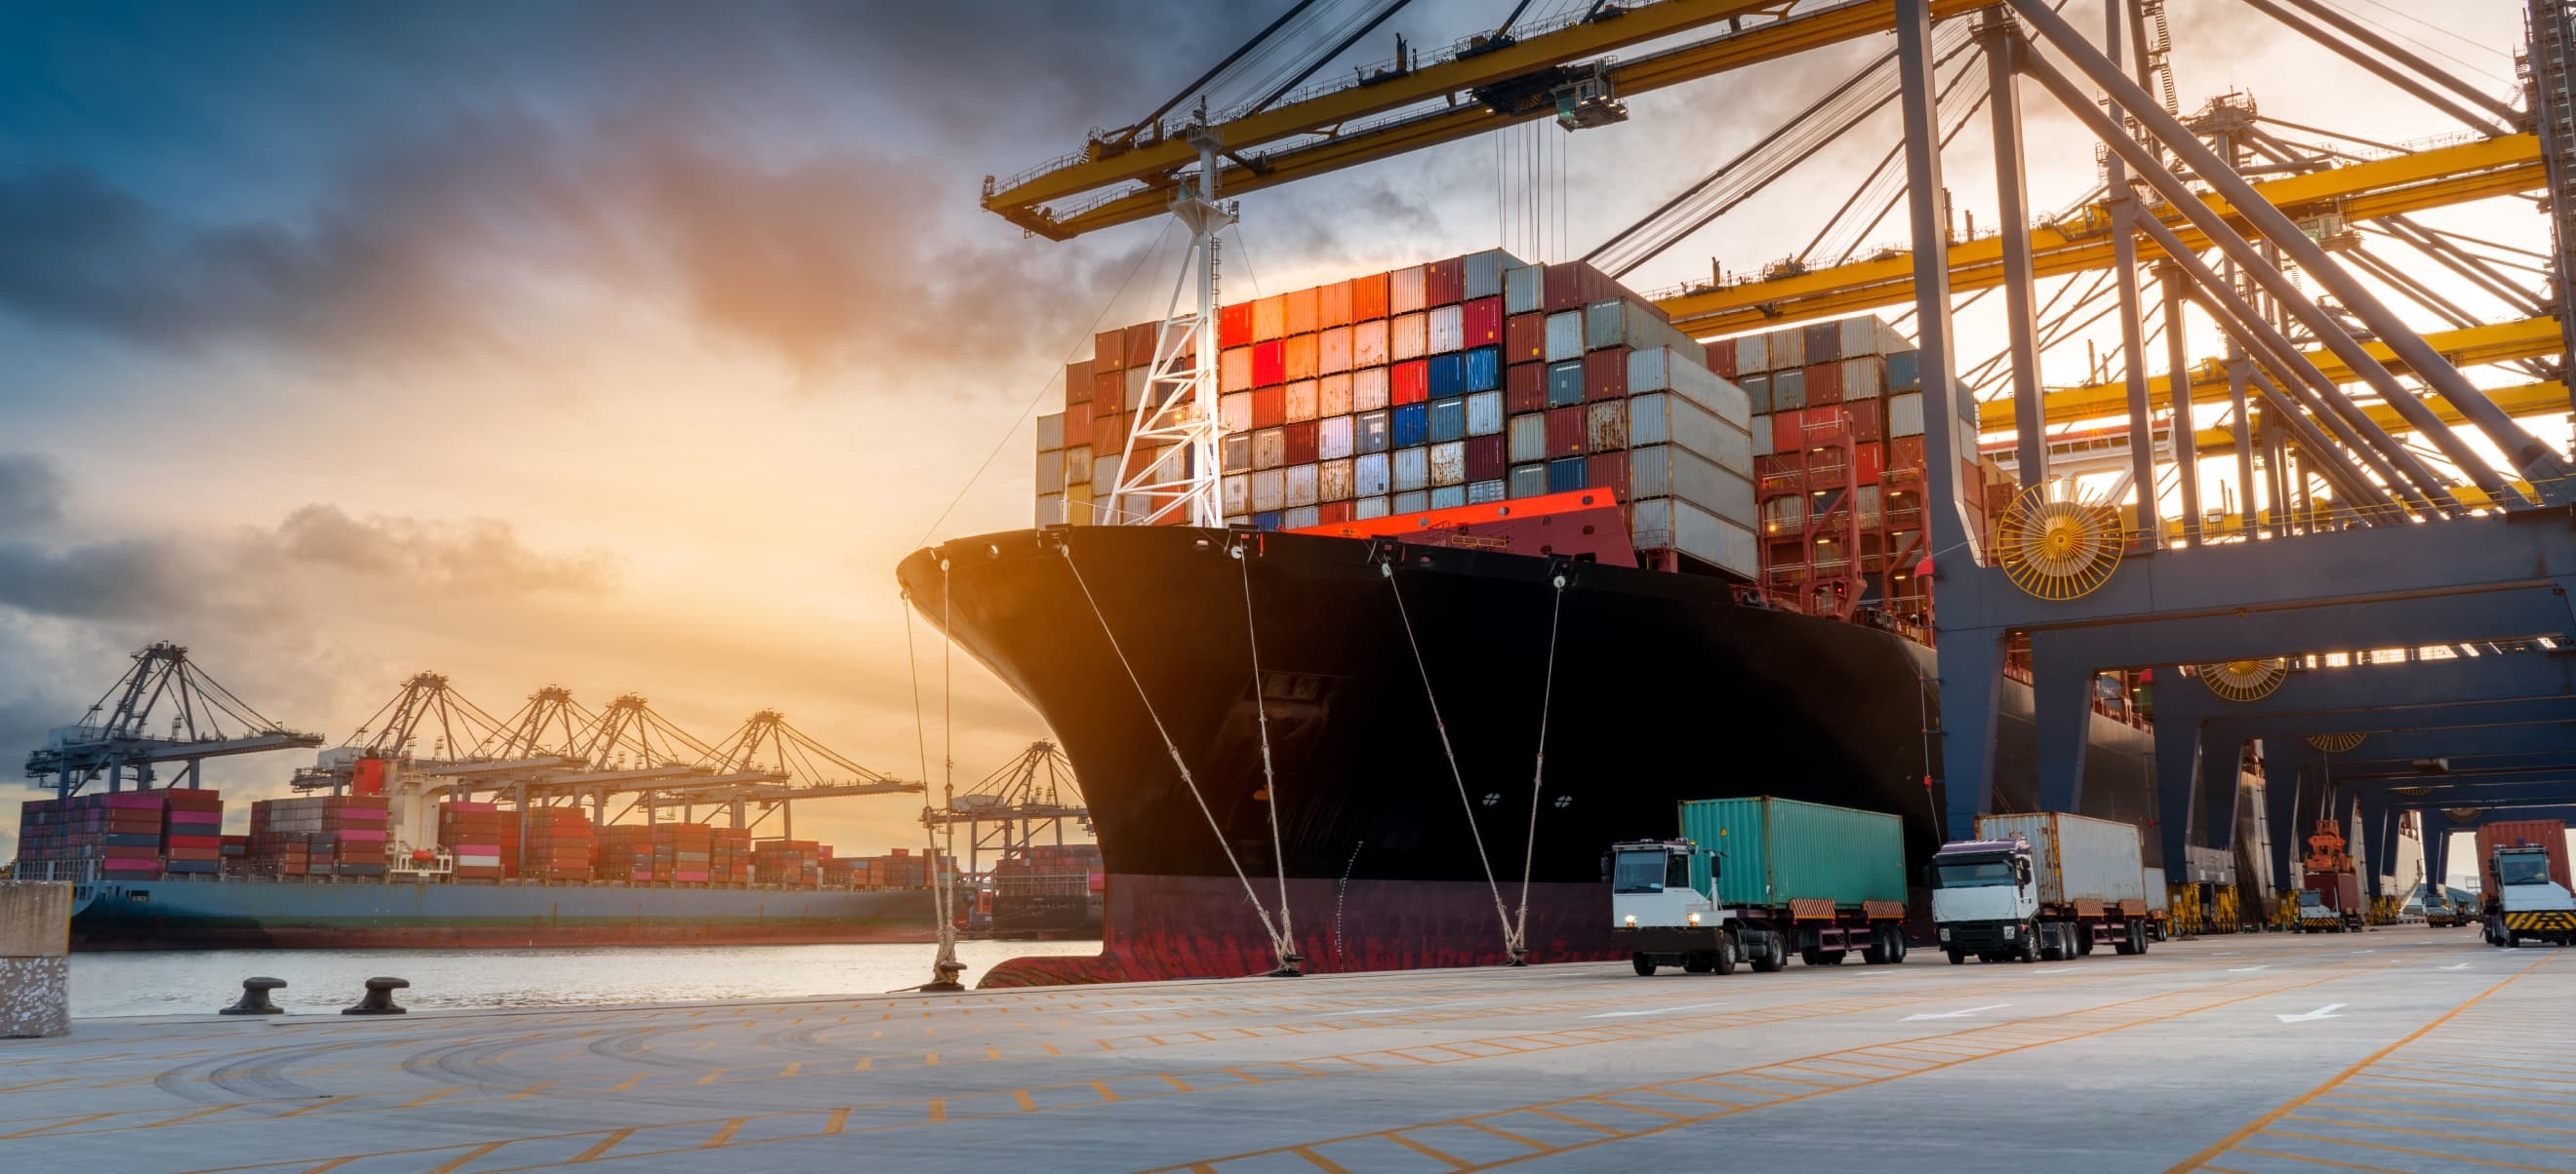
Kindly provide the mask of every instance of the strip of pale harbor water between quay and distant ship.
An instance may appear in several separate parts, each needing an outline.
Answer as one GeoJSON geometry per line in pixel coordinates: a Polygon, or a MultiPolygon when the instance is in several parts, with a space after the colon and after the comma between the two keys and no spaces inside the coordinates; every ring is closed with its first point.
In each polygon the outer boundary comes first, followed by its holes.
{"type": "MultiPolygon", "coordinates": [[[[242,978],[286,978],[278,1004],[327,1014],[374,976],[410,978],[402,1004],[600,1007],[698,999],[884,994],[930,981],[935,947],[724,945],[592,950],[116,950],[72,955],[72,1014],[201,1014],[234,1002],[242,978]]],[[[966,983],[994,963],[1097,955],[1100,942],[958,942],[966,983]]]]}

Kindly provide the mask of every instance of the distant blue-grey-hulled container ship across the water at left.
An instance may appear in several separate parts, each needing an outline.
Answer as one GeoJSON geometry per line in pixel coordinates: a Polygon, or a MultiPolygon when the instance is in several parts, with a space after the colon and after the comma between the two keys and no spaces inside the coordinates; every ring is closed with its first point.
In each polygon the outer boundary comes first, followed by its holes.
{"type": "MultiPolygon", "coordinates": [[[[806,945],[938,937],[930,857],[577,808],[430,803],[402,850],[386,796],[118,790],[21,808],[21,878],[75,883],[75,950],[806,945]],[[392,844],[392,847],[389,847],[392,844]]],[[[953,860],[945,865],[953,873],[953,860]]]]}

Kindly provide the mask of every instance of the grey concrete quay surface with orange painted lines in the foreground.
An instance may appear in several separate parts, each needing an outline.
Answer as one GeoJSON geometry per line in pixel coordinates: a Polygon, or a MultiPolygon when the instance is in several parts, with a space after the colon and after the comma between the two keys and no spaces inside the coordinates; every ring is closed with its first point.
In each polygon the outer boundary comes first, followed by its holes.
{"type": "MultiPolygon", "coordinates": [[[[209,1012],[237,991],[206,991],[209,1012]]],[[[2576,1171],[2576,950],[2251,935],[0,1040],[0,1169],[2576,1171]]]]}

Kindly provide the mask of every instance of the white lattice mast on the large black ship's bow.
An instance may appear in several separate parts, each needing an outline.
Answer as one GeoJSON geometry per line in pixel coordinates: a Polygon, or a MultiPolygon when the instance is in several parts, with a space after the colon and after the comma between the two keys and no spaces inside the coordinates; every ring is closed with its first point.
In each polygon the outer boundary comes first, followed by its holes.
{"type": "Polygon", "coordinates": [[[1175,515],[1190,525],[1224,525],[1218,499],[1218,420],[1216,420],[1216,234],[1234,224],[1234,211],[1216,203],[1218,136],[1190,126],[1198,149],[1198,185],[1172,193],[1172,216],[1190,229],[1190,257],[1172,286],[1172,309],[1154,332],[1154,363],[1146,371],[1136,427],[1118,461],[1118,492],[1108,499],[1113,525],[1154,525],[1175,515]],[[1198,306],[1180,309],[1180,294],[1198,275],[1198,306]]]}

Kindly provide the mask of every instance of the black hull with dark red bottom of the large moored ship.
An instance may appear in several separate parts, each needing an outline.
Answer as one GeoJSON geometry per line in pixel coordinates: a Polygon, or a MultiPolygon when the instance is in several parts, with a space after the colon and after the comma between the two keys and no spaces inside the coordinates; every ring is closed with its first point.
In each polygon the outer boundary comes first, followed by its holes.
{"type": "MultiPolygon", "coordinates": [[[[1471,548],[1388,574],[1370,551],[1270,533],[1236,561],[1218,530],[1074,528],[902,564],[912,605],[1056,731],[1108,873],[1100,958],[989,986],[1267,971],[1255,901],[1275,919],[1283,888],[1309,971],[1499,963],[1520,917],[1533,960],[1613,958],[1600,857],[1672,834],[1685,798],[1893,811],[1911,857],[1940,844],[1932,649],[1713,577],[1471,548]]],[[[2032,811],[2027,687],[2007,680],[1996,729],[1994,803],[2032,811]]],[[[2087,816],[2148,826],[2151,747],[2094,718],[2087,816]]]]}

